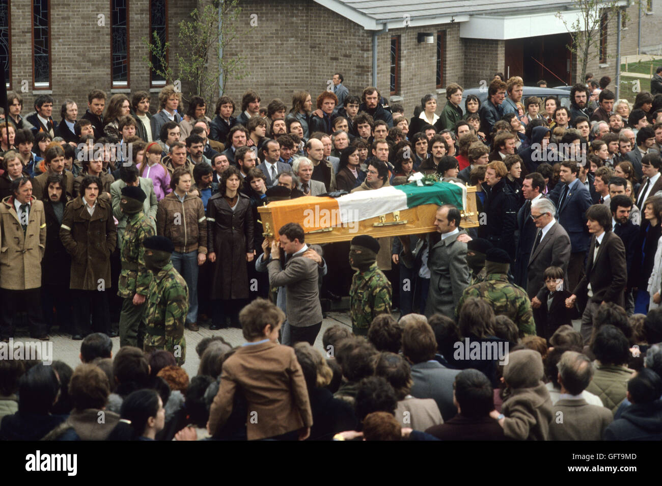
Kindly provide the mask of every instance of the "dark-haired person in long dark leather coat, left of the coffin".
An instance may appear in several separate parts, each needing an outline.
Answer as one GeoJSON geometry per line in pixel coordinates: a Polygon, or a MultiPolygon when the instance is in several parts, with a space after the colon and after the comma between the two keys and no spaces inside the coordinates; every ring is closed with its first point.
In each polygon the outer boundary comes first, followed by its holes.
{"type": "Polygon", "coordinates": [[[230,166],[218,183],[218,193],[207,203],[207,258],[214,264],[211,299],[213,324],[225,326],[227,316],[238,326],[239,311],[248,299],[248,269],[254,251],[253,209],[248,196],[240,192],[239,170],[230,166]]]}

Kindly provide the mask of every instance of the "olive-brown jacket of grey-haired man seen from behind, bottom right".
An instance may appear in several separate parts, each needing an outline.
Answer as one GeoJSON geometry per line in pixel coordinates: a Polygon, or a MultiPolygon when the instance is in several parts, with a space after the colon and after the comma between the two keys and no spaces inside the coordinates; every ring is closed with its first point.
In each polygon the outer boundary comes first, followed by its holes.
{"type": "Polygon", "coordinates": [[[549,440],[602,440],[604,429],[614,420],[609,409],[589,405],[585,399],[561,399],[552,411],[549,440]]]}

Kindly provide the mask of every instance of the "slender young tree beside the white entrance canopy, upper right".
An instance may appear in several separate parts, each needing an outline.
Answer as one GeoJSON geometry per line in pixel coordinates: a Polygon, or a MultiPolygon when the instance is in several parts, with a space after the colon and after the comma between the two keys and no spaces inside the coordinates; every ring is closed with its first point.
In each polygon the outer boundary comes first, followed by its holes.
{"type": "MultiPolygon", "coordinates": [[[[616,19],[619,0],[573,0],[570,11],[579,11],[575,21],[569,22],[563,12],[557,12],[556,17],[563,22],[570,34],[571,44],[568,50],[577,57],[581,72],[580,81],[587,73],[589,62],[595,58],[606,58],[606,33],[609,23],[616,19]]],[[[626,11],[621,13],[621,22],[626,19],[626,11]]]]}

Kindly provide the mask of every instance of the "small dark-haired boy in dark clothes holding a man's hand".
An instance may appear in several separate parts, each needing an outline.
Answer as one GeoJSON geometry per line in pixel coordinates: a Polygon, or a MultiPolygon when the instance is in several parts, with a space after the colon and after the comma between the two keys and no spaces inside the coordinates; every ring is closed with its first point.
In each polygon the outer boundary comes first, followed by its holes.
{"type": "Polygon", "coordinates": [[[572,326],[575,309],[565,307],[565,299],[571,293],[565,290],[563,282],[563,269],[561,267],[547,267],[543,273],[545,287],[538,292],[540,307],[534,310],[536,320],[536,334],[549,340],[560,326],[572,326]]]}

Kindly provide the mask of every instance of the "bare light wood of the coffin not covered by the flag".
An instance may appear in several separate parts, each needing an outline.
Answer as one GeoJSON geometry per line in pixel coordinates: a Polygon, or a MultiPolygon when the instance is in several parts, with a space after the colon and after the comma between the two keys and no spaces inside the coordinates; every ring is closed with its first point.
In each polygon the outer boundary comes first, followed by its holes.
{"type": "MultiPolygon", "coordinates": [[[[312,207],[316,207],[320,199],[330,198],[301,197],[293,201],[301,201],[301,213],[303,214],[305,211],[311,211],[312,207]]],[[[280,202],[277,201],[269,203],[266,206],[258,207],[265,238],[273,238],[274,234],[277,234],[278,228],[285,224],[283,220],[274,221],[273,217],[274,209],[280,202]]],[[[436,204],[420,205],[358,221],[354,224],[334,224],[334,220],[331,218],[328,221],[331,226],[326,226],[325,223],[326,227],[310,229],[310,231],[307,230],[306,224],[302,224],[302,226],[306,234],[306,242],[312,244],[350,241],[357,234],[369,234],[375,238],[383,238],[404,234],[431,233],[437,230],[437,227],[434,225],[437,208],[438,205],[436,204]]],[[[461,211],[461,216],[461,226],[463,228],[475,228],[478,226],[479,215],[476,205],[476,188],[473,186],[467,187],[467,207],[461,211]]],[[[301,217],[298,219],[303,220],[304,218],[301,217]]]]}

